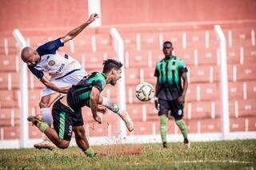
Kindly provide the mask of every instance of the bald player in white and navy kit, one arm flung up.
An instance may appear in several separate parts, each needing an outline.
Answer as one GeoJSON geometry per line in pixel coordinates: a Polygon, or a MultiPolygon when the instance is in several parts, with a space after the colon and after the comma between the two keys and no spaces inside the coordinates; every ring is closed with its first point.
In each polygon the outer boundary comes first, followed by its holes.
{"type": "MultiPolygon", "coordinates": [[[[67,93],[71,85],[76,85],[87,74],[78,61],[66,53],[57,53],[57,50],[64,43],[75,38],[96,18],[98,18],[98,14],[90,15],[90,18],[81,26],[71,30],[62,38],[46,42],[36,50],[30,47],[22,49],[22,61],[26,62],[31,73],[38,77],[42,84],[46,85],[45,89],[42,90],[39,107],[42,119],[48,125],[52,124],[50,105],[56,101],[60,93],[67,93]],[[50,80],[45,76],[45,73],[50,75],[50,80]]],[[[54,144],[44,140],[39,144],[34,144],[34,147],[52,149],[54,144]]]]}

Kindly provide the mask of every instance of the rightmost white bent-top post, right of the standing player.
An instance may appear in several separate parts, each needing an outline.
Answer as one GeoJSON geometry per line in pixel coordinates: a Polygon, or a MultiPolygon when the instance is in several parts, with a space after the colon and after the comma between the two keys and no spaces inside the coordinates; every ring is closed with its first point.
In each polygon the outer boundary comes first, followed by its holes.
{"type": "Polygon", "coordinates": [[[220,85],[221,85],[221,109],[222,109],[222,139],[227,140],[230,134],[229,91],[226,64],[226,38],[221,26],[214,26],[215,34],[219,42],[220,59],[220,85]]]}

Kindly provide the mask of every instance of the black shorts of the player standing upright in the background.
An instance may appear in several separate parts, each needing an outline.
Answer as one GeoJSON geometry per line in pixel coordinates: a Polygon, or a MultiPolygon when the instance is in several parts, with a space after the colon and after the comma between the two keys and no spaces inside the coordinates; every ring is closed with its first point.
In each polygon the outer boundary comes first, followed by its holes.
{"type": "Polygon", "coordinates": [[[158,99],[158,116],[163,114],[170,114],[170,116],[174,117],[175,121],[181,120],[183,117],[183,109],[184,104],[179,104],[178,100],[174,101],[166,101],[162,99],[158,99]]]}

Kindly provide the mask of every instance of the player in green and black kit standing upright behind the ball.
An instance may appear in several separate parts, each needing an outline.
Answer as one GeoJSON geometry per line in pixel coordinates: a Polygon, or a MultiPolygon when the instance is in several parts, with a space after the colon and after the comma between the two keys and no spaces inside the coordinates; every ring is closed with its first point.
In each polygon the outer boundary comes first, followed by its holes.
{"type": "Polygon", "coordinates": [[[170,116],[174,117],[176,125],[181,130],[184,144],[190,147],[186,124],[182,121],[188,86],[187,69],[184,61],[172,54],[173,49],[171,42],[163,43],[162,52],[165,57],[157,63],[154,72],[154,76],[157,77],[154,105],[158,109],[158,116],[160,117],[160,133],[163,148],[167,148],[166,123],[170,116]]]}

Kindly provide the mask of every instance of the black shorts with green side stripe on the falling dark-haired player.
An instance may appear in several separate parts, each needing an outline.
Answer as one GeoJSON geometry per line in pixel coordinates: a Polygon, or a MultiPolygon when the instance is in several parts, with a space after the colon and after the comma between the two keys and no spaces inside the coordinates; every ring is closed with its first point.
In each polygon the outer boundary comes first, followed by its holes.
{"type": "Polygon", "coordinates": [[[72,111],[68,106],[63,105],[60,99],[53,105],[52,115],[54,120],[54,129],[60,140],[71,140],[74,126],[82,126],[82,112],[72,111]]]}

